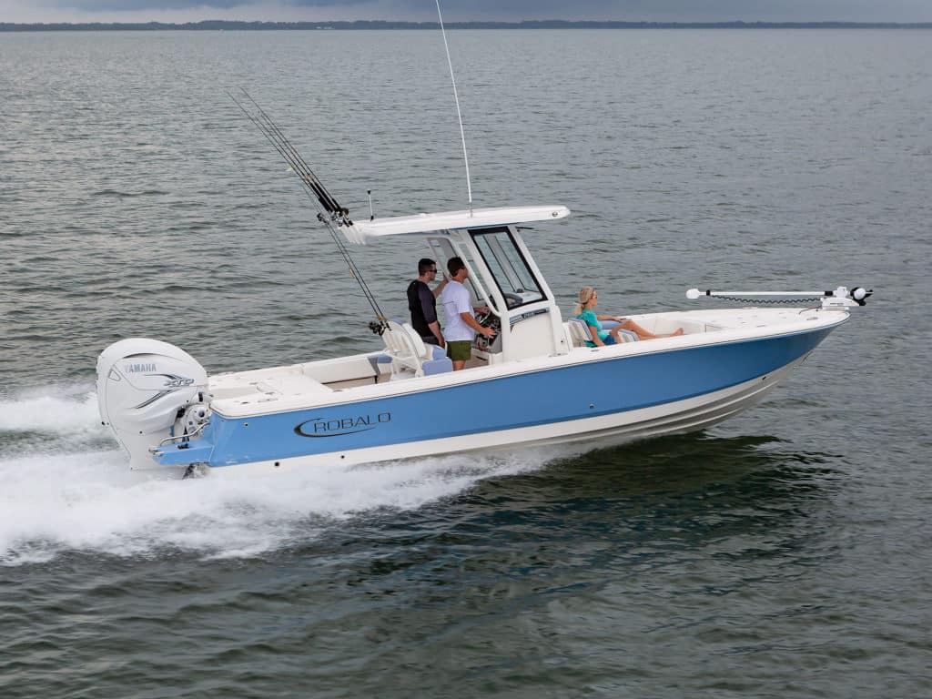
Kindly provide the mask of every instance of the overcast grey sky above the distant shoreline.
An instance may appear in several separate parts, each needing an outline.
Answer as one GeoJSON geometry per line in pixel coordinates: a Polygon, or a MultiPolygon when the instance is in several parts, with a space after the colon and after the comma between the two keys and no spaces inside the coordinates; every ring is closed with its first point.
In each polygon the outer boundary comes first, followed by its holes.
{"type": "MultiPolygon", "coordinates": [[[[445,21],[932,21],[932,0],[441,0],[445,21]]],[[[434,0],[0,0],[0,21],[436,19],[434,0]]]]}

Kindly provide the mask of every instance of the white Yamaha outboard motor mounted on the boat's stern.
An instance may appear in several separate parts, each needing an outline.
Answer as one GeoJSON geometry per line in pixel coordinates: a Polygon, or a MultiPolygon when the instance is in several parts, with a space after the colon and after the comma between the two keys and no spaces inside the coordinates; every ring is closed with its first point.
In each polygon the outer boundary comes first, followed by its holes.
{"type": "Polygon", "coordinates": [[[149,448],[210,418],[207,372],[184,349],[132,337],[97,358],[97,402],[104,425],[130,452],[130,469],[157,468],[149,448]]]}

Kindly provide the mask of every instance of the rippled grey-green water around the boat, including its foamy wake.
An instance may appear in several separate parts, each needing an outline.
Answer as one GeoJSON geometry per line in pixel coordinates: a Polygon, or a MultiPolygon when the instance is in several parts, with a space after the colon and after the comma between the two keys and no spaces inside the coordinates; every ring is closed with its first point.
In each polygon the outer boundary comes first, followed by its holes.
{"type": "MultiPolygon", "coordinates": [[[[873,288],[698,434],[142,480],[97,354],[377,347],[249,89],[336,198],[462,208],[432,32],[0,34],[0,695],[932,693],[927,31],[449,35],[477,206],[571,305],[873,288]]],[[[359,248],[390,315],[426,251],[359,248]]],[[[713,304],[723,302],[711,302],[713,304]]]]}

